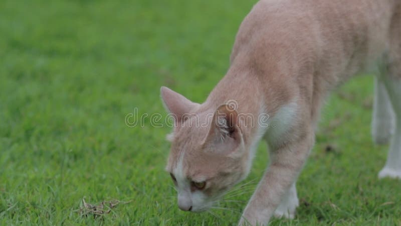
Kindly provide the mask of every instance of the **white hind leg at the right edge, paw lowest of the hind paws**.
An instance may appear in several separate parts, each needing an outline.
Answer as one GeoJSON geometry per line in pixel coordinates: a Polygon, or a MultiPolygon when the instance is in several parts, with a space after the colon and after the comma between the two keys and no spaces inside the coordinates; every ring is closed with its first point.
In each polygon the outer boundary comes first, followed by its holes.
{"type": "Polygon", "coordinates": [[[379,178],[401,179],[401,78],[390,77],[384,80],[395,113],[395,133],[390,142],[390,149],[384,168],[379,178]]]}

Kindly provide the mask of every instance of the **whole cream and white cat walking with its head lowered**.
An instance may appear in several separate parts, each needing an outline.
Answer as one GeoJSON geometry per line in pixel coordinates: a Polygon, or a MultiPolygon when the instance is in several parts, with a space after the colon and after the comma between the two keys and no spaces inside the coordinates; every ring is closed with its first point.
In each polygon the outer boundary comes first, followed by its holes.
{"type": "Polygon", "coordinates": [[[257,3],[241,24],[226,76],[204,103],[161,88],[176,122],[166,169],[179,208],[211,207],[248,175],[265,140],[271,162],[239,224],[267,224],[273,214],[294,217],[295,182],[325,97],[376,63],[372,135],[383,143],[394,132],[379,177],[401,178],[401,1],[257,3]],[[258,121],[261,115],[270,117],[258,121]],[[252,118],[256,124],[247,122],[252,118]]]}

